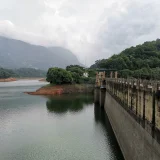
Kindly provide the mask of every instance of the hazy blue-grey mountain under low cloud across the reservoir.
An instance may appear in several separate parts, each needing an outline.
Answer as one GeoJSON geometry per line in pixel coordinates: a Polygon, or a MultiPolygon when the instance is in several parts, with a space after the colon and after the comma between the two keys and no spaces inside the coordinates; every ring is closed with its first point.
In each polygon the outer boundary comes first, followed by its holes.
{"type": "Polygon", "coordinates": [[[0,66],[3,68],[64,68],[80,64],[77,57],[62,47],[42,47],[0,36],[0,66]]]}

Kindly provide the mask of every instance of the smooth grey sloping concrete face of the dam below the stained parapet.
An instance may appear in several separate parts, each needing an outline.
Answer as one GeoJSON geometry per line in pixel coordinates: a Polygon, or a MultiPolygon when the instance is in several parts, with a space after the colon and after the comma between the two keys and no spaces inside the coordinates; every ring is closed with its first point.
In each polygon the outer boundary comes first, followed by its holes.
{"type": "Polygon", "coordinates": [[[126,160],[160,160],[160,144],[108,92],[104,107],[126,160]]]}

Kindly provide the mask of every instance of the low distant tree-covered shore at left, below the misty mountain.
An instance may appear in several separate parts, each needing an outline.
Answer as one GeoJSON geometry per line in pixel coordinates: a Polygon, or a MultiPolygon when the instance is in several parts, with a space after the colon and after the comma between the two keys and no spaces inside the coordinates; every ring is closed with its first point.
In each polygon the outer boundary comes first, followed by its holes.
{"type": "Polygon", "coordinates": [[[45,77],[45,76],[46,72],[39,69],[20,68],[11,70],[11,69],[0,68],[0,78],[10,78],[10,77],[29,78],[29,77],[45,77]]]}

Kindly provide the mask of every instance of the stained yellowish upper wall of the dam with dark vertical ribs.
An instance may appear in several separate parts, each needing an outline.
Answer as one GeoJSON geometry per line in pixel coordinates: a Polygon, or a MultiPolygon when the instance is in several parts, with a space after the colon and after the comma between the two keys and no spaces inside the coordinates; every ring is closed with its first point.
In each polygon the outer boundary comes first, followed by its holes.
{"type": "Polygon", "coordinates": [[[160,82],[107,78],[106,88],[137,117],[160,132],[160,82]]]}

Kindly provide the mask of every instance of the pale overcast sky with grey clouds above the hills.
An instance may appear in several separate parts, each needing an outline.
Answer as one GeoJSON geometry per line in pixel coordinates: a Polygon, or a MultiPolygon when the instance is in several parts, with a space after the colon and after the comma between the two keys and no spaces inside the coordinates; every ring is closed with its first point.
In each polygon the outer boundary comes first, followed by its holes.
{"type": "Polygon", "coordinates": [[[0,34],[92,64],[160,38],[160,0],[0,0],[0,34]]]}

